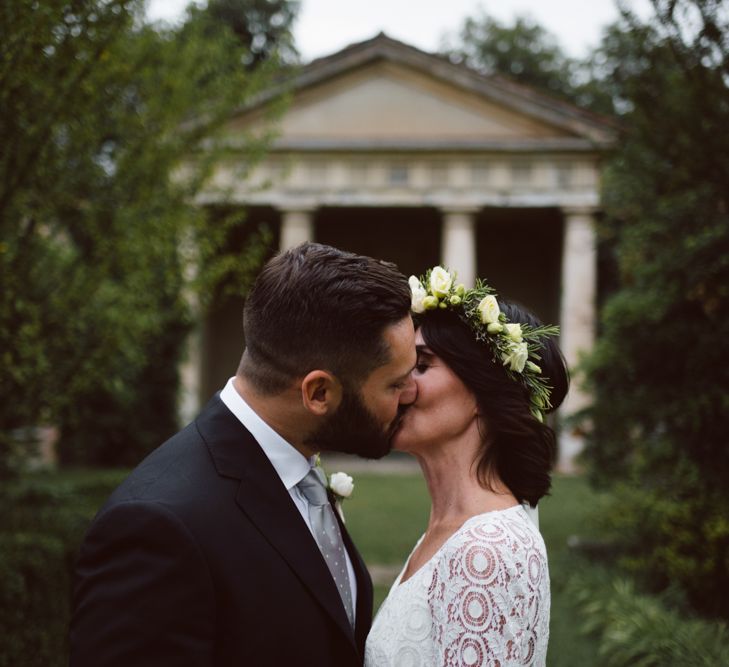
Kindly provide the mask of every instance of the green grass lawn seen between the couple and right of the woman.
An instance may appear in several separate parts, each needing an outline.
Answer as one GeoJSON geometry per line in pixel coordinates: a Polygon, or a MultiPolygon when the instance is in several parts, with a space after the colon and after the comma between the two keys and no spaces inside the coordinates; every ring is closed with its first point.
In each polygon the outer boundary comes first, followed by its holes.
{"type": "MultiPolygon", "coordinates": [[[[402,565],[425,529],[429,501],[417,475],[358,473],[355,493],[344,505],[347,528],[368,564],[402,565]]],[[[577,633],[581,619],[564,593],[580,563],[567,548],[571,535],[589,535],[589,512],[600,498],[579,477],[556,477],[552,495],[540,503],[539,520],[550,562],[552,613],[548,665],[598,663],[594,642],[577,633]]],[[[375,587],[375,609],[387,586],[375,587]]]]}

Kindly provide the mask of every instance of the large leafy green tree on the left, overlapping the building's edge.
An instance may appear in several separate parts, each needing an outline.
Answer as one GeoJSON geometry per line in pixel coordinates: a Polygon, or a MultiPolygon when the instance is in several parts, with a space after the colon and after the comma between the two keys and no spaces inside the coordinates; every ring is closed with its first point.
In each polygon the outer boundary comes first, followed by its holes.
{"type": "MultiPolygon", "coordinates": [[[[181,249],[196,238],[205,266],[227,233],[192,201],[221,128],[272,71],[242,67],[247,51],[225,26],[211,39],[204,21],[153,27],[143,10],[141,0],[0,8],[6,473],[20,427],[60,424],[67,458],[106,463],[174,428],[189,318],[181,249]],[[81,442],[94,432],[106,449],[81,442]]],[[[254,161],[266,139],[251,137],[242,157],[254,161]]]]}

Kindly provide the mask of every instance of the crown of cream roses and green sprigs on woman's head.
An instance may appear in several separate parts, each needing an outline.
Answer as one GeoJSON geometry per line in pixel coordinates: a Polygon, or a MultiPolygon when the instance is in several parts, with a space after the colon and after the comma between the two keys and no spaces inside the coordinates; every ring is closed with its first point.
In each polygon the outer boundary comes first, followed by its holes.
{"type": "Polygon", "coordinates": [[[527,388],[531,413],[543,421],[544,412],[552,407],[552,388],[535,362],[541,359],[542,339],[558,335],[559,327],[509,322],[489,285],[479,279],[474,289],[467,290],[456,285],[455,278],[455,273],[442,266],[429,269],[424,278],[410,276],[411,310],[418,314],[438,308],[456,312],[476,340],[489,347],[494,363],[502,364],[512,380],[527,388]]]}

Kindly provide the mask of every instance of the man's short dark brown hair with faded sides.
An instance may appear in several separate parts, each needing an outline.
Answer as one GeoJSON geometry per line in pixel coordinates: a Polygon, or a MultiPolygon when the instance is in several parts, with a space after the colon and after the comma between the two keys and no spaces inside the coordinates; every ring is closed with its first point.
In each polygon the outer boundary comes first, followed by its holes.
{"type": "Polygon", "coordinates": [[[410,288],[394,264],[301,244],[274,256],[246,298],[238,372],[264,394],[314,369],[360,382],[388,363],[383,332],[409,312],[410,288]]]}

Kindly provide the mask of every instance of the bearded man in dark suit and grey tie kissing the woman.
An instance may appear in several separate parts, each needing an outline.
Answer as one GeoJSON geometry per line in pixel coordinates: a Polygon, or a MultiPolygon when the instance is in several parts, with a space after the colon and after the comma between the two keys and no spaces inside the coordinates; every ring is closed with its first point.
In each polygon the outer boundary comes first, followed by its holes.
{"type": "Polygon", "coordinates": [[[392,264],[318,244],[266,264],[235,377],[86,535],[72,667],[362,663],[372,583],[312,464],[389,451],[415,398],[409,309],[392,264]]]}

